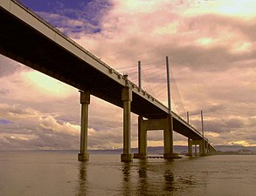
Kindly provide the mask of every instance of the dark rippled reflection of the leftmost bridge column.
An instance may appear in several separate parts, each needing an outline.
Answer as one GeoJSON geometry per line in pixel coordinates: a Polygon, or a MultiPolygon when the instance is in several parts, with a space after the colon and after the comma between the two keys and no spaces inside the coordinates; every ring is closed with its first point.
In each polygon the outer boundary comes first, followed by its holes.
{"type": "Polygon", "coordinates": [[[87,161],[80,161],[79,163],[79,184],[77,187],[76,196],[84,196],[88,191],[88,179],[87,179],[87,161]]]}

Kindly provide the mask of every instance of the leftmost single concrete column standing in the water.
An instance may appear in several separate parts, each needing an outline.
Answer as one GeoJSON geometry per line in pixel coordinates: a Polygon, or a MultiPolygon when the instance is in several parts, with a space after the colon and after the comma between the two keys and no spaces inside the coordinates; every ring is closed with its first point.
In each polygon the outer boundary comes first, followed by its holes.
{"type": "Polygon", "coordinates": [[[90,93],[87,91],[80,91],[81,104],[81,128],[80,128],[80,153],[79,160],[88,160],[87,153],[87,129],[88,129],[88,105],[90,104],[90,93]]]}

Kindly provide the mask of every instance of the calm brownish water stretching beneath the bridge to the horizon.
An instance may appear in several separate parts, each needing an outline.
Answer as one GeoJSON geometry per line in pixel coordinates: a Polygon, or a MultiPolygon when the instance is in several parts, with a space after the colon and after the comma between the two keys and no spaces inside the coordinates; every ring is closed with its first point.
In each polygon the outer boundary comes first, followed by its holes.
{"type": "Polygon", "coordinates": [[[121,163],[118,154],[0,152],[1,196],[256,196],[255,185],[255,155],[121,163]]]}

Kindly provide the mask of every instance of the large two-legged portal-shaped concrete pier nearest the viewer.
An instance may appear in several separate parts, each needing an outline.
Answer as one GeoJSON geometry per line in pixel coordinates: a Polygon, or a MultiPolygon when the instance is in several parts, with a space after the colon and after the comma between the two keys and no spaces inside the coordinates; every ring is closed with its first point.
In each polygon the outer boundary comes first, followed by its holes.
{"type": "Polygon", "coordinates": [[[147,131],[163,130],[164,152],[163,159],[176,159],[178,155],[173,153],[173,131],[172,131],[172,117],[160,119],[143,119],[142,116],[138,118],[138,153],[135,153],[135,158],[147,158],[147,131]]]}

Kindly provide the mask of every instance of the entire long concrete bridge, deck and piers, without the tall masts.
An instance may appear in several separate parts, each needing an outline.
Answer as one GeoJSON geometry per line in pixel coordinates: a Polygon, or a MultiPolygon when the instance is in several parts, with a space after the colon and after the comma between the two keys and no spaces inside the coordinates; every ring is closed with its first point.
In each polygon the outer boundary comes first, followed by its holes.
{"type": "Polygon", "coordinates": [[[188,151],[199,145],[201,155],[216,152],[203,134],[151,96],[126,75],[86,51],[71,38],[16,0],[0,0],[0,53],[80,90],[81,131],[79,159],[87,153],[90,96],[123,108],[121,161],[147,158],[147,131],[163,130],[164,159],[174,159],[173,131],[188,138],[188,151]],[[138,115],[138,153],[131,154],[131,112],[138,115]]]}

